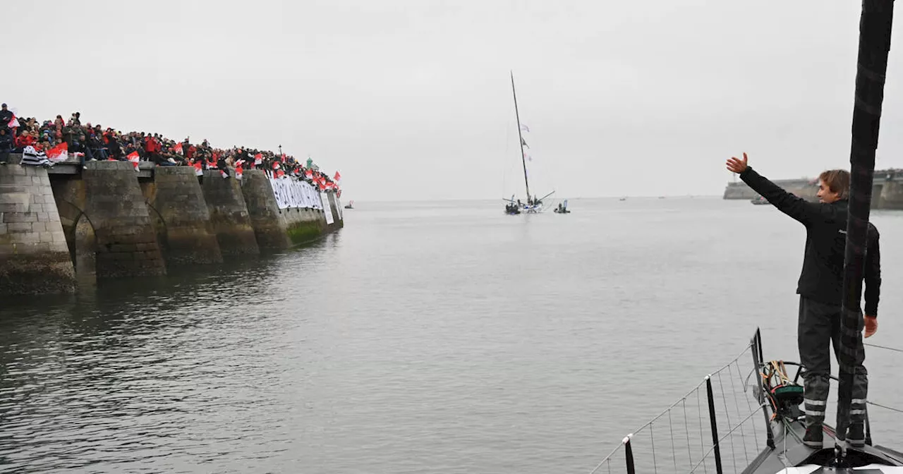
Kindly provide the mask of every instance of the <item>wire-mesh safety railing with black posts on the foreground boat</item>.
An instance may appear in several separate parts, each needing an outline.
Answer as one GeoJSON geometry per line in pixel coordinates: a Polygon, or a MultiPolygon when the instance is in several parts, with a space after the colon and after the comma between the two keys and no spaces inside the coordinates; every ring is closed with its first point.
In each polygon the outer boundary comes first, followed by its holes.
{"type": "Polygon", "coordinates": [[[628,433],[591,474],[741,472],[773,436],[761,397],[759,331],[736,358],[628,433]],[[763,418],[764,417],[764,418],[763,418]]]}

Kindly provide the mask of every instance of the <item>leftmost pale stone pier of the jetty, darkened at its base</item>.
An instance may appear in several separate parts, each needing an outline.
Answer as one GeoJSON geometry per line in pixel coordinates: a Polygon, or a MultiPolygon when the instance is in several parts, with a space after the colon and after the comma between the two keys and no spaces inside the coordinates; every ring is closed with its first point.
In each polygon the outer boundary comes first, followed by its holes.
{"type": "Polygon", "coordinates": [[[75,287],[47,171],[0,165],[0,296],[74,293],[75,287]]]}

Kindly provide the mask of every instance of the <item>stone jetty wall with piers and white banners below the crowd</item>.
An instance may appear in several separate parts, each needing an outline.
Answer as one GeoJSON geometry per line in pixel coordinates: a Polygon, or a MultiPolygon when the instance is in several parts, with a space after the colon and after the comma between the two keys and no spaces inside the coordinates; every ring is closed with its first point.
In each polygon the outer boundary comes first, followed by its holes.
{"type": "Polygon", "coordinates": [[[0,295],[74,293],[76,275],[166,274],[310,242],[344,226],[334,191],[246,170],[128,162],[0,165],[0,295]]]}

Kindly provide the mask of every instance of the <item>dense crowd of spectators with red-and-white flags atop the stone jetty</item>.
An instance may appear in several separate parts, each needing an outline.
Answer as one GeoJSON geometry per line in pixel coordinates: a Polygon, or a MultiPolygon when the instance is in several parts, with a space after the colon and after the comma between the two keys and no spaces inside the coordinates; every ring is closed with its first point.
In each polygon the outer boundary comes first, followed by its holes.
{"type": "MultiPolygon", "coordinates": [[[[189,137],[172,140],[161,134],[148,132],[122,132],[112,127],[86,122],[81,114],[73,113],[68,120],[56,116],[43,122],[33,117],[17,117],[0,107],[0,164],[6,163],[8,153],[23,153],[27,147],[37,153],[66,150],[69,161],[78,160],[83,166],[87,161],[129,161],[135,155],[138,161],[157,166],[193,166],[198,173],[203,170],[223,171],[240,175],[243,170],[264,170],[275,177],[289,176],[307,181],[322,189],[338,189],[335,180],[320,172],[308,159],[306,163],[293,156],[272,151],[256,150],[243,146],[215,148],[205,139],[191,143],[189,137]]],[[[281,146],[280,146],[281,148],[281,146]]],[[[338,173],[337,176],[338,178],[338,173]]]]}

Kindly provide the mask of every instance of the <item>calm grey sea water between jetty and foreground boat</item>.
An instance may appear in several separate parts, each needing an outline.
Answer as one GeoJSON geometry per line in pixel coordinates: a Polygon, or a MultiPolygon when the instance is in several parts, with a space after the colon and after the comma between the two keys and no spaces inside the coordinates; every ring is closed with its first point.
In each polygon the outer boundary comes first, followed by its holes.
{"type": "MultiPolygon", "coordinates": [[[[796,360],[802,226],[716,198],[570,204],[360,202],[281,255],[4,301],[0,471],[584,473],[757,327],[796,360]]],[[[868,340],[900,347],[903,212],[872,216],[868,340]]],[[[871,400],[903,404],[900,364],[867,348],[871,400]]],[[[903,446],[903,415],[870,410],[903,446]]]]}

